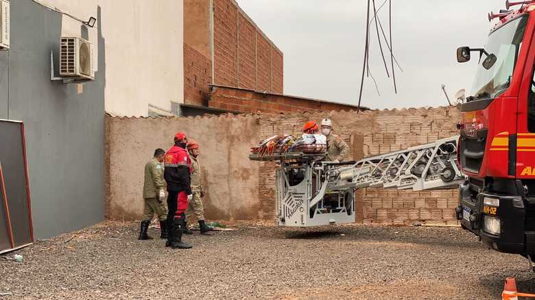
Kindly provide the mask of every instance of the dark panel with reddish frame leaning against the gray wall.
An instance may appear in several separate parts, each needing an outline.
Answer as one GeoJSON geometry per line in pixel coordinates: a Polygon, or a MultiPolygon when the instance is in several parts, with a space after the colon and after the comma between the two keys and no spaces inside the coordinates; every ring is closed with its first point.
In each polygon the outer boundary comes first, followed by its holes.
{"type": "Polygon", "coordinates": [[[22,123],[0,121],[0,162],[14,247],[32,242],[22,123]]]}

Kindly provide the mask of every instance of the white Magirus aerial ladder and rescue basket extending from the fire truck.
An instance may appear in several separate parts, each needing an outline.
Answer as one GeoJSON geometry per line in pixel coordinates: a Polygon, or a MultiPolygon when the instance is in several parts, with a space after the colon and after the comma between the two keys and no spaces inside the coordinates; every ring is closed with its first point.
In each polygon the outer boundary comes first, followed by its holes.
{"type": "Polygon", "coordinates": [[[289,227],[354,223],[359,188],[433,190],[457,188],[458,136],[358,162],[326,162],[324,153],[251,154],[275,161],[276,223],[289,227]]]}

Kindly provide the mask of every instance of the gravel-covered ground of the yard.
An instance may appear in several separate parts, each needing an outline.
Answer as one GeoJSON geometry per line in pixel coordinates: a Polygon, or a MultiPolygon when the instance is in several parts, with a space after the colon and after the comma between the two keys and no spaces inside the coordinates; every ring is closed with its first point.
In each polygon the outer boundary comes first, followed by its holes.
{"type": "Polygon", "coordinates": [[[189,250],[136,240],[136,223],[39,241],[0,255],[0,300],[500,299],[508,276],[535,292],[527,260],[458,228],[234,226],[189,250]]]}

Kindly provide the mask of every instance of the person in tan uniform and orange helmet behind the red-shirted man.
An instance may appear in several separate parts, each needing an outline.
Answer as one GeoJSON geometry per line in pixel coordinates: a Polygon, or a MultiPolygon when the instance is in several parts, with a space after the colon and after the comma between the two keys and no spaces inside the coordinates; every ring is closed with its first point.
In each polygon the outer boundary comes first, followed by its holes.
{"type": "MultiPolygon", "coordinates": [[[[188,208],[186,210],[186,218],[189,219],[193,214],[197,218],[199,223],[200,233],[204,236],[209,236],[210,227],[206,226],[204,223],[204,206],[202,205],[202,198],[204,197],[204,192],[202,190],[201,184],[201,169],[198,160],[199,156],[199,144],[195,140],[188,142],[187,149],[191,158],[191,164],[193,171],[190,175],[191,177],[191,192],[193,192],[193,198],[189,202],[188,208]]],[[[191,230],[185,229],[185,234],[193,234],[191,230]]]]}

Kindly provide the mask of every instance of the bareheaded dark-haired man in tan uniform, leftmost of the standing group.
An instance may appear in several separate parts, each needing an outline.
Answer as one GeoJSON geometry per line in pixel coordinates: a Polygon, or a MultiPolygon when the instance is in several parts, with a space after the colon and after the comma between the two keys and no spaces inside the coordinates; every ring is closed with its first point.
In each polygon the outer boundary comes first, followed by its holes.
{"type": "Polygon", "coordinates": [[[165,181],[163,180],[163,158],[165,151],[156,149],[154,158],[145,164],[145,182],[143,184],[143,198],[145,204],[143,208],[143,217],[141,218],[141,229],[139,231],[139,240],[152,240],[147,234],[152,216],[156,214],[160,220],[161,234],[160,238],[167,238],[167,211],[163,205],[165,199],[165,181]]]}

